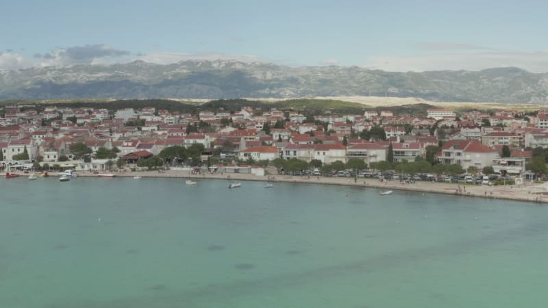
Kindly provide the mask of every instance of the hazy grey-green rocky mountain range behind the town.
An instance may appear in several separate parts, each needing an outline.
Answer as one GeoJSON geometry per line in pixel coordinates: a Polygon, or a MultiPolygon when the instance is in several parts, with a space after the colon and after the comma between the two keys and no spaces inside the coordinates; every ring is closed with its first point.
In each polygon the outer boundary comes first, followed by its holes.
{"type": "Polygon", "coordinates": [[[230,60],[0,70],[0,99],[234,99],[341,96],[548,102],[548,74],[520,68],[399,73],[230,60]]]}

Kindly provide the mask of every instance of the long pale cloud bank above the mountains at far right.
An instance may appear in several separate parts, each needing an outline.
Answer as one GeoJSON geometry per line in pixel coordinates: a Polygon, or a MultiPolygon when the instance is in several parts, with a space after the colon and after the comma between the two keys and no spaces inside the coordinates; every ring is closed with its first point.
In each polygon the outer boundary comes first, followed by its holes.
{"type": "Polygon", "coordinates": [[[436,53],[429,55],[374,55],[368,57],[368,68],[396,72],[427,70],[482,70],[515,66],[533,73],[548,72],[548,51],[532,53],[436,53]]]}

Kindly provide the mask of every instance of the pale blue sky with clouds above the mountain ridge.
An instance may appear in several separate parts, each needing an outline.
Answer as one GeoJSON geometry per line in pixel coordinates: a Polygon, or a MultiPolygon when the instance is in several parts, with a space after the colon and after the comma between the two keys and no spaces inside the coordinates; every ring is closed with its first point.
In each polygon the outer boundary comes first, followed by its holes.
{"type": "Polygon", "coordinates": [[[548,72],[548,1],[0,0],[0,69],[238,60],[548,72]]]}

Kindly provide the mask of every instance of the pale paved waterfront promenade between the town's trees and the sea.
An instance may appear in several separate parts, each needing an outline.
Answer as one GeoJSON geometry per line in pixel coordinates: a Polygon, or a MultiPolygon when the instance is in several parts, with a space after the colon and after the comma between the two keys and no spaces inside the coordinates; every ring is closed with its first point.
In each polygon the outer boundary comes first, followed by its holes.
{"type": "MultiPolygon", "coordinates": [[[[92,172],[77,172],[81,177],[97,177],[92,172]]],[[[143,178],[177,178],[177,179],[224,179],[230,181],[271,181],[285,183],[310,183],[322,185],[341,185],[355,186],[362,188],[376,188],[382,190],[406,190],[413,192],[428,192],[434,194],[451,194],[453,196],[470,196],[479,198],[501,199],[509,201],[523,201],[532,203],[546,203],[548,196],[543,197],[543,191],[538,190],[538,185],[525,185],[517,187],[516,185],[462,185],[462,183],[440,183],[430,181],[416,181],[413,184],[401,184],[399,181],[381,182],[379,179],[353,177],[301,177],[291,175],[251,175],[242,173],[224,173],[192,175],[186,170],[165,170],[162,172],[137,171],[137,172],[114,172],[116,177],[135,177],[143,178]],[[229,179],[227,177],[230,177],[229,179]],[[459,192],[458,189],[461,189],[459,192]]],[[[548,191],[544,191],[548,193],[548,191]]]]}

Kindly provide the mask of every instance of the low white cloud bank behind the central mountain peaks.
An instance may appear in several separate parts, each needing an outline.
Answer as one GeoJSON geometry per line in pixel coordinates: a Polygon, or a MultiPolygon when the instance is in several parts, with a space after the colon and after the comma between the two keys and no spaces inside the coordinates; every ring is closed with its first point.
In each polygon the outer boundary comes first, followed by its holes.
{"type": "Polygon", "coordinates": [[[225,53],[147,53],[138,57],[138,60],[155,64],[172,64],[188,60],[236,60],[240,62],[264,62],[256,55],[229,55],[225,53]]]}

